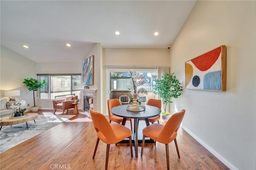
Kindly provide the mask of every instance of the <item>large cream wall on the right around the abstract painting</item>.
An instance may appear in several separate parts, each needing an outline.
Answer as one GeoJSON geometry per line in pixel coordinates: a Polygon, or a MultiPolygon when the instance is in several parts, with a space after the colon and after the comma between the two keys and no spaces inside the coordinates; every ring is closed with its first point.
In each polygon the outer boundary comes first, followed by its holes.
{"type": "Polygon", "coordinates": [[[184,89],[172,109],[186,109],[182,127],[232,169],[256,169],[255,21],[255,1],[197,1],[170,52],[184,86],[186,61],[226,45],[226,92],[184,89]]]}

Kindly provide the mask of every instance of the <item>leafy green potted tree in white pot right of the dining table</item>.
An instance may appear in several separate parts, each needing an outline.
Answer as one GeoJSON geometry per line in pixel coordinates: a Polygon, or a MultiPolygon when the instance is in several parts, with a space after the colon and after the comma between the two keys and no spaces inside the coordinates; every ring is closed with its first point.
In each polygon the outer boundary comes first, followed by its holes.
{"type": "Polygon", "coordinates": [[[166,111],[167,104],[172,103],[172,98],[178,98],[181,95],[182,86],[173,72],[171,74],[165,73],[161,80],[155,80],[153,88],[154,94],[158,94],[163,101],[164,111],[161,112],[161,119],[167,121],[171,116],[166,111]]]}

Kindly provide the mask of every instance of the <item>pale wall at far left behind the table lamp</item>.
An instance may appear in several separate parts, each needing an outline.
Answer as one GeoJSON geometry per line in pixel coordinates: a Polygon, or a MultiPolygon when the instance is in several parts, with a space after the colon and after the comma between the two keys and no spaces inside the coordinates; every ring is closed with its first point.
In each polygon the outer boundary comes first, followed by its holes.
{"type": "Polygon", "coordinates": [[[1,46],[0,71],[1,99],[9,100],[4,97],[4,90],[20,90],[20,96],[15,96],[16,101],[25,100],[32,106],[33,91],[29,92],[22,82],[24,78],[36,78],[36,62],[1,46]]]}

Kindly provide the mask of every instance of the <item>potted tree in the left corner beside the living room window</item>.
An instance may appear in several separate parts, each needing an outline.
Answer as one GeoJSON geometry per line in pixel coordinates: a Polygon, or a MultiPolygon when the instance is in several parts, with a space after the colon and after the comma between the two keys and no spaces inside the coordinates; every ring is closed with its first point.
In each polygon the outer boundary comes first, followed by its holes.
{"type": "Polygon", "coordinates": [[[23,80],[24,80],[23,83],[25,84],[25,86],[27,86],[28,91],[33,90],[34,106],[30,107],[30,109],[31,111],[38,111],[38,106],[36,106],[36,102],[35,102],[35,91],[38,91],[39,88],[44,87],[44,84],[46,84],[47,82],[45,80],[43,82],[39,82],[34,78],[25,78],[23,80]]]}

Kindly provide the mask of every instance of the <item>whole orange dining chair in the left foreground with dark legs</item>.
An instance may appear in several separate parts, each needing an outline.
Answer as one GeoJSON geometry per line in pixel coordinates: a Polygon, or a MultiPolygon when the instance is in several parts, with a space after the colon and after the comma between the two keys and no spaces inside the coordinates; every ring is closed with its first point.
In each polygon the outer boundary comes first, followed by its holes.
{"type": "Polygon", "coordinates": [[[96,133],[98,137],[92,159],[94,159],[95,157],[99,141],[101,140],[102,142],[106,143],[107,151],[106,151],[105,170],[107,170],[110,144],[118,143],[126,138],[129,138],[130,150],[131,150],[131,156],[132,156],[132,138],[131,138],[132,131],[130,129],[118,123],[111,125],[108,122],[108,119],[103,114],[95,112],[92,109],[90,109],[90,115],[91,115],[92,123],[96,129],[96,133]]]}

